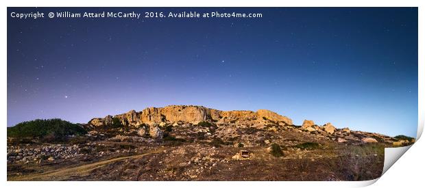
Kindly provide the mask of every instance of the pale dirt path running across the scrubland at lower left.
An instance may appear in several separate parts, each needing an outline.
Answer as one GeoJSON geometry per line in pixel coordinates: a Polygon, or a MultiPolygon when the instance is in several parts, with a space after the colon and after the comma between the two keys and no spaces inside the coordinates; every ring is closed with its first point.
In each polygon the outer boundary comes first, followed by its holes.
{"type": "Polygon", "coordinates": [[[43,172],[40,174],[27,174],[23,176],[13,176],[8,177],[8,180],[66,180],[69,179],[71,176],[85,176],[90,174],[92,170],[95,170],[99,167],[103,167],[105,165],[108,165],[109,163],[114,163],[116,161],[123,161],[125,159],[137,159],[140,157],[145,157],[146,155],[151,155],[154,153],[162,152],[162,148],[158,150],[154,150],[151,152],[147,152],[141,155],[132,155],[132,156],[126,156],[126,157],[117,157],[113,159],[107,159],[104,161],[97,161],[95,163],[88,163],[84,165],[80,165],[77,167],[60,167],[56,170],[51,170],[48,172],[43,172]]]}

